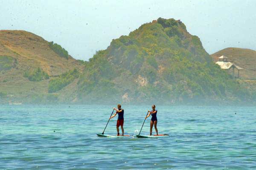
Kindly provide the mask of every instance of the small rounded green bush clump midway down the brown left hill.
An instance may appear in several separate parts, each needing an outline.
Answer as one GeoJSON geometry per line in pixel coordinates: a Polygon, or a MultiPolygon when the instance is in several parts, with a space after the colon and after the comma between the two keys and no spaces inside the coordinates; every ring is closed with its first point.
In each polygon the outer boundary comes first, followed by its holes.
{"type": "Polygon", "coordinates": [[[43,71],[41,68],[38,68],[36,70],[26,71],[23,76],[27,77],[29,81],[32,81],[32,82],[40,82],[43,79],[49,79],[49,75],[45,71],[43,71]]]}

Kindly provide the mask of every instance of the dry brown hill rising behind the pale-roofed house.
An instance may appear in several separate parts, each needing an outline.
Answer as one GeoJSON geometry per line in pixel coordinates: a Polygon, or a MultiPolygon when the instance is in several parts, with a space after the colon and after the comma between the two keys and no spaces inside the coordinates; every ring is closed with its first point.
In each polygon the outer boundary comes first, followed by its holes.
{"type": "Polygon", "coordinates": [[[256,80],[256,51],[244,48],[225,48],[211,56],[214,61],[217,61],[221,55],[227,56],[230,62],[244,69],[239,72],[241,78],[256,80]]]}

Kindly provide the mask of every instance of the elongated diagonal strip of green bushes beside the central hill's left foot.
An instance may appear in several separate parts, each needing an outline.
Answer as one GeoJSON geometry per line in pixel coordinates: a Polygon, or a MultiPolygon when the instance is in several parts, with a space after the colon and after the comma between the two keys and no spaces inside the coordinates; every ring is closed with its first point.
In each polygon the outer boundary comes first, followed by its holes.
{"type": "Polygon", "coordinates": [[[54,93],[56,91],[59,91],[65,86],[69,85],[71,82],[73,82],[74,79],[78,77],[79,72],[76,68],[71,71],[67,71],[64,74],[61,74],[58,78],[54,78],[49,82],[48,92],[54,93]]]}

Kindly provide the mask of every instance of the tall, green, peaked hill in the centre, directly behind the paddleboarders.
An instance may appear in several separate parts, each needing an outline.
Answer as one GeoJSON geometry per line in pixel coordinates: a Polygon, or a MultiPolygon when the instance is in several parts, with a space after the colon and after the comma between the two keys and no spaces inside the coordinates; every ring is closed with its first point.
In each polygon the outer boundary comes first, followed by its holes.
{"type": "Polygon", "coordinates": [[[146,23],[98,51],[79,78],[79,100],[96,103],[217,104],[250,95],[215,65],[180,20],[146,23]]]}

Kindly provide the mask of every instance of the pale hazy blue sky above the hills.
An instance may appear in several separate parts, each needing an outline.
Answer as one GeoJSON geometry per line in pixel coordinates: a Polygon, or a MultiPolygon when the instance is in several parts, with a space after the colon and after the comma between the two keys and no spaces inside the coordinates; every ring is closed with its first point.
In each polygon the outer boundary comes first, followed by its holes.
{"type": "Polygon", "coordinates": [[[25,30],[88,60],[157,18],[181,20],[209,53],[256,50],[256,0],[0,0],[0,30],[25,30]]]}

